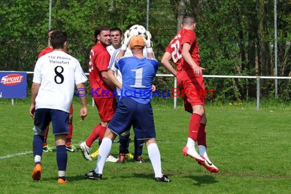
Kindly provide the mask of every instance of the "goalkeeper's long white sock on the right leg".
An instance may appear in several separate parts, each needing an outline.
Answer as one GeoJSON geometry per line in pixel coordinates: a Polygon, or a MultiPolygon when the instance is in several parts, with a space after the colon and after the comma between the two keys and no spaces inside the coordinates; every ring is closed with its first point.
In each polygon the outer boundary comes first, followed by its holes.
{"type": "Polygon", "coordinates": [[[155,172],[155,178],[162,177],[162,165],[161,165],[161,155],[157,143],[151,143],[147,147],[149,158],[151,160],[152,166],[155,172]]]}

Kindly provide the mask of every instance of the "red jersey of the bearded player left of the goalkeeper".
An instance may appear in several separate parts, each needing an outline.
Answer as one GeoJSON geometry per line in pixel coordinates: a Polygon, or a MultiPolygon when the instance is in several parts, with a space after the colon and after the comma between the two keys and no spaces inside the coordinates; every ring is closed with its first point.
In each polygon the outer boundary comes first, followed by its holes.
{"type": "Polygon", "coordinates": [[[112,89],[104,82],[101,71],[108,70],[110,54],[100,42],[96,43],[90,52],[89,81],[93,99],[113,98],[112,89]]]}

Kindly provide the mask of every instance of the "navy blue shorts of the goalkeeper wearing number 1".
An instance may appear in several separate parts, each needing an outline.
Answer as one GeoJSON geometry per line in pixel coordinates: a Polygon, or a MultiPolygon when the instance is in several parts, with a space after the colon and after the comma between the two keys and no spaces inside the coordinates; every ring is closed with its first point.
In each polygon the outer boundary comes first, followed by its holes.
{"type": "Polygon", "coordinates": [[[108,129],[120,135],[133,126],[137,139],[156,138],[154,115],[151,104],[141,104],[129,97],[118,102],[116,111],[109,122],[108,129]]]}

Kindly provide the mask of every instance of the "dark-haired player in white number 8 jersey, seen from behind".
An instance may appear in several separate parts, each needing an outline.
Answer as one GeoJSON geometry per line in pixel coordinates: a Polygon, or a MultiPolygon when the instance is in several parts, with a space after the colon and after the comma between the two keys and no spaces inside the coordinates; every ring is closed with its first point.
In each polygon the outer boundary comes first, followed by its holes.
{"type": "MultiPolygon", "coordinates": [[[[67,34],[56,31],[51,35],[54,51],[40,57],[35,65],[31,91],[30,115],[34,118],[33,180],[41,177],[42,144],[46,126],[52,122],[53,134],[57,147],[58,183],[67,183],[65,177],[67,166],[66,135],[68,133],[69,108],[77,90],[84,88],[87,81],[77,59],[65,53],[67,34]]],[[[86,96],[80,97],[82,120],[87,116],[86,96]]]]}

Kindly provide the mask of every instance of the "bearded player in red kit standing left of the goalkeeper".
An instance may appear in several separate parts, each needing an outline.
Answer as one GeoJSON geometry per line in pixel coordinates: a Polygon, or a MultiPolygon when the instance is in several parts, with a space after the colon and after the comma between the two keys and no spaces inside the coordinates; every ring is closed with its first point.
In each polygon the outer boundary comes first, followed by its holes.
{"type": "MultiPolygon", "coordinates": [[[[110,28],[101,26],[95,30],[95,45],[92,47],[89,58],[89,81],[91,95],[98,109],[101,123],[96,125],[86,141],[80,144],[80,149],[85,159],[92,160],[90,148],[92,143],[99,137],[100,142],[104,137],[107,125],[115,111],[115,96],[112,94],[115,86],[110,82],[107,75],[107,67],[110,54],[106,46],[110,45],[110,28]]],[[[116,162],[111,155],[109,159],[116,162]]]]}

